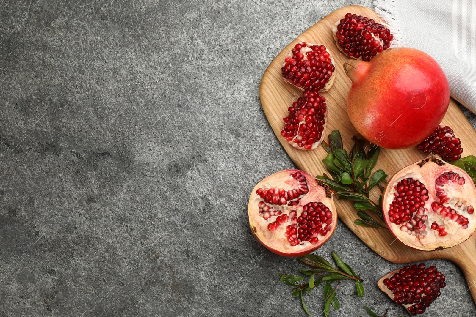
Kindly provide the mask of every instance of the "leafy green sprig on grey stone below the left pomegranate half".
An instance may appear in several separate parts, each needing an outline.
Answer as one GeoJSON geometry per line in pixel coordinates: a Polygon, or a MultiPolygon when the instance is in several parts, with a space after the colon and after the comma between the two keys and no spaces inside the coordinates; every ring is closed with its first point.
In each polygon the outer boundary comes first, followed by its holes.
{"type": "Polygon", "coordinates": [[[293,297],[297,298],[300,296],[302,307],[307,315],[311,314],[304,304],[303,293],[308,292],[308,294],[310,294],[312,289],[317,288],[322,282],[326,282],[326,285],[324,286],[324,315],[326,317],[329,316],[329,309],[331,305],[334,307],[334,309],[340,308],[336,290],[339,287],[340,281],[342,279],[355,280],[357,296],[364,296],[364,286],[362,285],[362,279],[360,278],[360,275],[357,275],[348,264],[344,263],[344,261],[339,258],[335,251],[332,251],[332,258],[336,262],[337,268],[330,264],[326,259],[314,254],[307,254],[305,256],[296,258],[299,263],[311,268],[300,270],[302,274],[310,276],[309,281],[304,284],[297,283],[298,281],[304,279],[302,276],[276,273],[281,275],[281,278],[279,279],[280,282],[295,286],[293,288],[293,297]],[[335,287],[333,287],[331,284],[333,282],[337,282],[335,287]]]}

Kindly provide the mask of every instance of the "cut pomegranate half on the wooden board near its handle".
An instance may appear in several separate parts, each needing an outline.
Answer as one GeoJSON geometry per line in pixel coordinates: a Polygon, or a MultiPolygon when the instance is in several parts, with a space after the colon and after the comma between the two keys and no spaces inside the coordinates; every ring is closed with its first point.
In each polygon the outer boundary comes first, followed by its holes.
{"type": "Polygon", "coordinates": [[[471,177],[434,156],[395,173],[382,204],[390,232],[417,250],[453,247],[476,229],[476,188],[471,177]]]}

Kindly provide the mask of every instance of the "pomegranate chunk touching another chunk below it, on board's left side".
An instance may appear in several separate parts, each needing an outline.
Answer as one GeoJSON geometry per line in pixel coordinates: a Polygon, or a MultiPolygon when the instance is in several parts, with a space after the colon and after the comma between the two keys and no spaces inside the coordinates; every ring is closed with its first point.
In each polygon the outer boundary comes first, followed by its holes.
{"type": "Polygon", "coordinates": [[[335,62],[321,44],[299,42],[284,59],[284,81],[303,90],[329,90],[335,79],[335,62]]]}

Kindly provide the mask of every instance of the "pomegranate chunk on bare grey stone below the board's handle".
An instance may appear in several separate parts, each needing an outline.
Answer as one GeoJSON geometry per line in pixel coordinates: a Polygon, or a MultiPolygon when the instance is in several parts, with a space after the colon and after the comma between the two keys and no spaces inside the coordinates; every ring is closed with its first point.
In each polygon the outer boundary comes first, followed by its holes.
{"type": "Polygon", "coordinates": [[[378,281],[378,287],[410,315],[423,314],[446,286],[445,274],[433,265],[425,267],[420,263],[392,271],[378,281]]]}

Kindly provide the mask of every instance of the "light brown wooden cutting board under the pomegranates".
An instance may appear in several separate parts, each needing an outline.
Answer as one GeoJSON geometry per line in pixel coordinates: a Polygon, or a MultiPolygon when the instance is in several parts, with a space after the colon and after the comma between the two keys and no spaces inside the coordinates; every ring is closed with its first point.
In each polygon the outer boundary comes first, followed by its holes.
{"type": "MultiPolygon", "coordinates": [[[[288,115],[288,107],[291,106],[293,101],[296,101],[297,97],[302,96],[301,90],[284,82],[281,66],[288,52],[294,48],[298,41],[320,43],[327,47],[336,61],[336,81],[329,91],[322,92],[322,95],[327,99],[329,111],[325,135],[338,129],[344,141],[344,148],[350,150],[353,145],[352,136],[357,135],[360,137],[360,135],[347,116],[346,101],[351,82],[347,78],[342,65],[348,58],[337,48],[331,31],[335,21],[342,19],[348,12],[367,16],[375,19],[377,22],[381,21],[376,12],[361,6],[348,6],[330,13],[289,43],[278,54],[265,71],[259,87],[261,105],[274,133],[278,136],[279,141],[297,167],[311,175],[322,175],[323,172],[326,172],[326,167],[321,160],[326,157],[327,153],[322,146],[318,146],[314,151],[297,150],[281,137],[282,118],[288,115]]],[[[476,155],[476,132],[453,99],[451,99],[448,111],[443,119],[443,124],[450,125],[455,131],[456,136],[460,137],[464,156],[476,155]]],[[[405,150],[382,149],[375,170],[382,169],[390,177],[401,168],[425,157],[426,154],[418,151],[416,147],[405,150]]],[[[378,201],[378,196],[382,194],[381,190],[374,188],[372,191],[371,197],[374,201],[378,201]]],[[[344,221],[347,227],[354,231],[372,250],[391,262],[408,263],[429,259],[448,259],[454,262],[463,271],[471,294],[476,300],[476,235],[446,250],[430,252],[414,250],[395,240],[386,229],[355,225],[354,220],[357,218],[357,211],[353,208],[351,202],[336,199],[336,205],[338,217],[344,221]]],[[[374,216],[375,219],[378,218],[377,215],[374,216]]]]}

